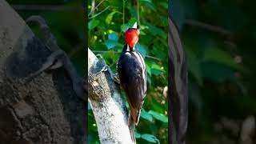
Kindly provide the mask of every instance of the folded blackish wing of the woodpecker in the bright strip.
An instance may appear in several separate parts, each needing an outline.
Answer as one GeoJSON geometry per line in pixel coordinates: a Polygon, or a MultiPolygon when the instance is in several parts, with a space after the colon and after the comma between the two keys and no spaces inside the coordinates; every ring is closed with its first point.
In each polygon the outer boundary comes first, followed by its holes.
{"type": "Polygon", "coordinates": [[[135,123],[138,123],[140,109],[146,93],[145,73],[142,63],[134,60],[137,58],[133,52],[122,54],[118,62],[118,74],[122,87],[130,106],[130,113],[135,123]],[[123,62],[123,63],[122,63],[123,62]]]}

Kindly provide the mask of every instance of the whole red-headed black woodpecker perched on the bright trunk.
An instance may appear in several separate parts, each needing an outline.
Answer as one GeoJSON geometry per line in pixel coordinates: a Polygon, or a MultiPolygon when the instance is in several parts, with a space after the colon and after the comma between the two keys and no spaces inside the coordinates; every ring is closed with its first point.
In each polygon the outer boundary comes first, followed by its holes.
{"type": "Polygon", "coordinates": [[[130,113],[128,124],[131,131],[132,140],[134,137],[134,125],[138,125],[142,105],[146,96],[146,65],[142,54],[135,50],[138,42],[139,29],[137,23],[132,28],[126,30],[126,45],[122,49],[122,54],[118,58],[117,71],[120,85],[126,93],[129,103],[130,113]]]}

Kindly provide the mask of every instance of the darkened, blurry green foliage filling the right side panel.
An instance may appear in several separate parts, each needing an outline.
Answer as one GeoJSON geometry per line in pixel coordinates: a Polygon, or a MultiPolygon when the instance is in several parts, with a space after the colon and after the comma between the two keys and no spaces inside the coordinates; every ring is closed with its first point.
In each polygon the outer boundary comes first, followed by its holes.
{"type": "Polygon", "coordinates": [[[256,143],[255,2],[169,4],[189,68],[187,143],[256,143]]]}

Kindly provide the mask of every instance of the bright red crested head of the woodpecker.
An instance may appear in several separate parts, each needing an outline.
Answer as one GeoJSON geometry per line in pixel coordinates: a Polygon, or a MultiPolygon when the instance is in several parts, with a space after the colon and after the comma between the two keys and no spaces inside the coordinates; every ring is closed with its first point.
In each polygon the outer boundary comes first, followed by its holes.
{"type": "Polygon", "coordinates": [[[138,42],[139,30],[135,28],[129,28],[126,30],[126,43],[130,47],[130,50],[134,49],[134,45],[138,42]]]}

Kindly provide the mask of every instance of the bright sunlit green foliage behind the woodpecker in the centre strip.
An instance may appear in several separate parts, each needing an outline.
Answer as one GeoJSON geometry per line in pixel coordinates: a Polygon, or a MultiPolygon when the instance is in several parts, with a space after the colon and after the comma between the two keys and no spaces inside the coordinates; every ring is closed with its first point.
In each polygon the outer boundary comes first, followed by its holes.
{"type": "MultiPolygon", "coordinates": [[[[137,143],[167,143],[167,11],[164,0],[139,0],[140,38],[135,48],[145,58],[148,90],[140,122],[137,143]]],[[[115,72],[116,62],[125,45],[124,32],[137,21],[137,0],[88,1],[89,47],[102,54],[115,72]]],[[[125,98],[125,94],[122,94],[125,98]]],[[[89,105],[90,106],[90,105],[89,105]]],[[[99,143],[94,114],[89,107],[89,143],[99,143]]]]}

